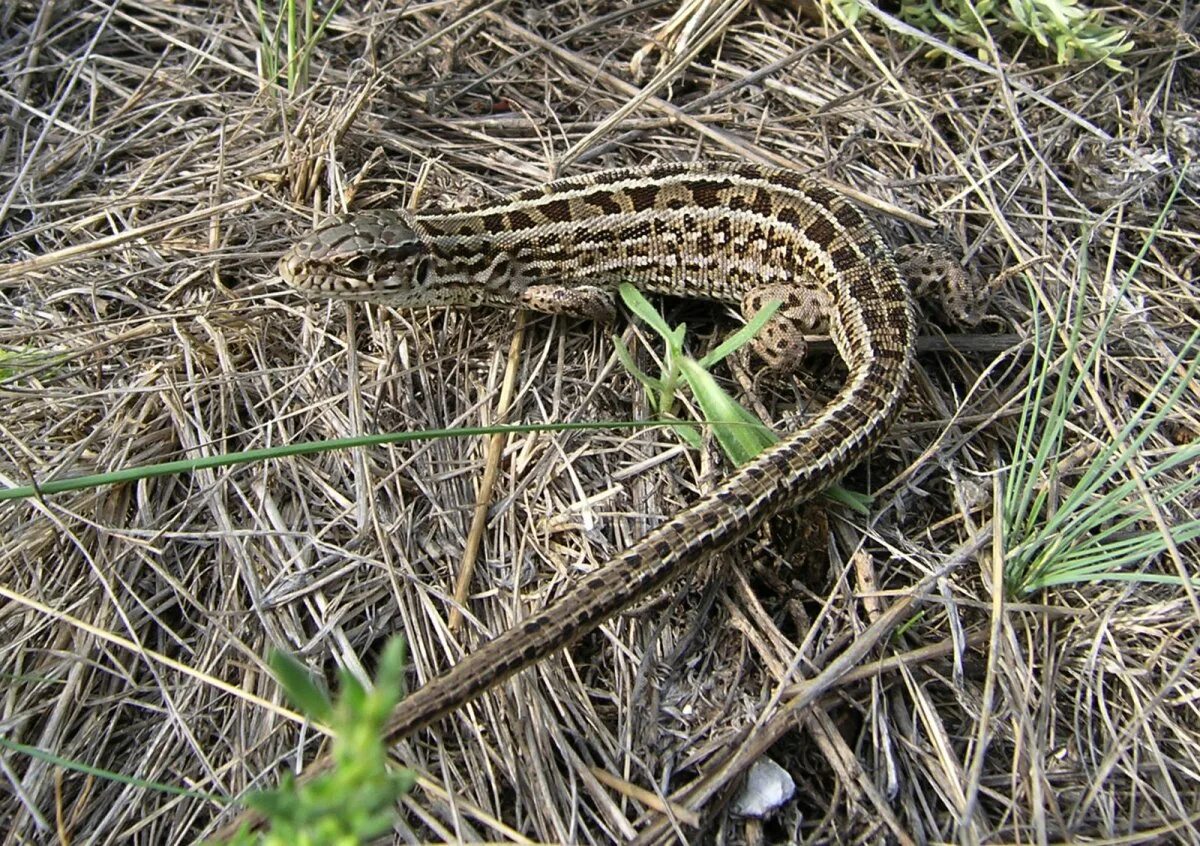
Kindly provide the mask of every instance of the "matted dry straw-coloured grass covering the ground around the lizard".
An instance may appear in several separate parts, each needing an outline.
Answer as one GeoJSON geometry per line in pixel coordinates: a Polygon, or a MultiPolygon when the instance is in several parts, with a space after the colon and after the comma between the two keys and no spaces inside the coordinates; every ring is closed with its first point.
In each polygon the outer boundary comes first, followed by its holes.
{"type": "MultiPolygon", "coordinates": [[[[878,19],[856,36],[744,5],[624,114],[628,62],[668,4],[344,10],[292,102],[256,76],[250,2],[8,4],[0,346],[46,358],[0,379],[0,480],[494,420],[511,314],[306,305],[272,262],[343,202],[407,202],[425,166],[421,202],[451,205],[542,181],[564,157],[569,172],[786,163],[872,198],[898,242],[946,242],[983,274],[1040,257],[1028,276],[1048,302],[1080,283],[1085,229],[1087,296],[1111,298],[1192,167],[1076,409],[1082,443],[1124,419],[1200,318],[1196,12],[1178,7],[1114,14],[1138,34],[1135,73],[1002,42],[1001,76],[930,62],[878,19]]],[[[1099,584],[992,601],[991,475],[1028,325],[1010,281],[979,331],[1015,335],[1012,349],[966,338],[922,355],[904,419],[848,482],[878,492],[869,520],[821,505],[781,518],[401,744],[422,788],[397,839],[695,838],[632,787],[674,796],[775,737],[798,798],[761,828],[722,811],[718,779],[698,808],[707,836],[1200,839],[1195,596],[1099,584]],[[902,635],[868,629],[930,574],[902,635]],[[856,642],[876,647],[851,653],[865,668],[785,710],[790,685],[856,642]]],[[[534,317],[521,331],[510,419],[644,413],[602,330],[534,317]]],[[[827,396],[829,370],[818,358],[804,384],[743,383],[778,420],[827,396]]],[[[1200,430],[1189,396],[1178,443],[1200,430]]],[[[659,431],[512,438],[451,634],[485,450],[451,439],[0,503],[0,736],[223,797],[270,784],[322,738],[277,704],[269,647],[331,674],[370,667],[402,631],[420,684],[721,472],[659,431]]],[[[1194,570],[1195,553],[1148,565],[1194,570]]],[[[188,842],[220,812],[0,756],[6,844],[188,842]]]]}

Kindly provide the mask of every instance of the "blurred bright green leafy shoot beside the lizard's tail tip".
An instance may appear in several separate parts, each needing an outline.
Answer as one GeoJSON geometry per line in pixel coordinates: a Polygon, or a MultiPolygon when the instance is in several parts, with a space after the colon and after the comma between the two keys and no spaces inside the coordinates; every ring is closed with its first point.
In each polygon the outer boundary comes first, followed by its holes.
{"type": "Polygon", "coordinates": [[[266,817],[268,830],[242,827],[229,846],[360,846],[391,828],[397,799],[416,781],[409,770],[389,770],[383,743],[388,718],[404,695],[404,638],[389,641],[371,689],[343,670],[337,702],[294,658],[271,655],[271,670],[292,702],[329,725],[334,766],[308,781],[288,774],[277,788],[247,796],[246,804],[266,817]]]}

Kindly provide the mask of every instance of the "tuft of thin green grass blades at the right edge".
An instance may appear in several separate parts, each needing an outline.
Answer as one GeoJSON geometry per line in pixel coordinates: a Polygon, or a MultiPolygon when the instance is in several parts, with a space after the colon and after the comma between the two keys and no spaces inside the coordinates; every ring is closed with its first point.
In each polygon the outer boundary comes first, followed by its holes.
{"type": "MultiPolygon", "coordinates": [[[[1200,330],[1188,338],[1110,440],[1085,444],[1084,449],[1091,448],[1093,454],[1082,462],[1076,458],[1080,448],[1072,450],[1067,444],[1073,418],[1078,418],[1076,400],[1097,370],[1109,326],[1165,214],[1164,209],[1098,330],[1091,330],[1096,337],[1086,355],[1081,354],[1085,295],[1061,301],[1050,326],[1044,326],[1038,310],[1033,310],[1036,361],[1003,480],[1004,582],[1013,598],[1052,586],[1103,580],[1183,583],[1181,576],[1136,568],[1144,568],[1171,545],[1200,538],[1200,518],[1164,520],[1165,526],[1156,520],[1172,511],[1186,514],[1186,508],[1180,506],[1200,492],[1200,474],[1194,470],[1200,466],[1200,444],[1165,455],[1144,448],[1184,401],[1189,383],[1200,372],[1200,330]],[[1069,329],[1061,354],[1056,354],[1055,338],[1064,324],[1069,329]],[[1153,506],[1146,502],[1150,485],[1156,486],[1153,506]]],[[[1086,265],[1085,252],[1080,280],[1086,278],[1086,265]]],[[[1084,284],[1078,289],[1085,290],[1084,284]]],[[[1200,581],[1188,577],[1200,587],[1200,581]]]]}

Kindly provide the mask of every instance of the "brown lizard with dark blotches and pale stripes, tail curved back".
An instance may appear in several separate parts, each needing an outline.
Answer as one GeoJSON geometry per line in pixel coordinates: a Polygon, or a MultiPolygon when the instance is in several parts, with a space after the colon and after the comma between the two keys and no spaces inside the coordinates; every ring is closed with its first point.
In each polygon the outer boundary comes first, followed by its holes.
{"type": "Polygon", "coordinates": [[[787,170],[661,164],[550,182],[455,212],[364,211],[326,222],[281,260],[310,294],[401,306],[500,305],[599,319],[611,288],[784,307],[758,349],[793,366],[815,311],[848,376],[803,428],[731,472],[568,593],[408,696],[398,739],[562,649],[620,610],[811,498],[866,455],[900,406],[913,307],[876,230],[848,200],[787,170]]]}

